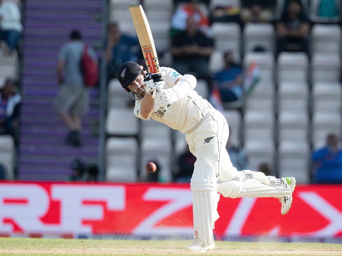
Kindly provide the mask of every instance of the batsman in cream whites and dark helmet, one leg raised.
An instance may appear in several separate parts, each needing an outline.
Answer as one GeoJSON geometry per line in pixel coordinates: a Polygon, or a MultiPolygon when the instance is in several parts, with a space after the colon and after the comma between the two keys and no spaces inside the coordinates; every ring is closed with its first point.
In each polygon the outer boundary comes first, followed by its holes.
{"type": "Polygon", "coordinates": [[[195,76],[181,75],[167,67],[160,70],[161,73],[149,74],[138,63],[125,62],[117,75],[122,88],[135,100],[134,114],[185,133],[190,151],[196,156],[190,182],[194,242],[188,248],[205,252],[215,247],[213,228],[219,218],[220,194],[230,198],[279,198],[281,214],[286,214],[292,203],[294,177],[278,179],[262,172],[238,171],[225,149],[229,135],[227,121],[196,93],[195,76]]]}

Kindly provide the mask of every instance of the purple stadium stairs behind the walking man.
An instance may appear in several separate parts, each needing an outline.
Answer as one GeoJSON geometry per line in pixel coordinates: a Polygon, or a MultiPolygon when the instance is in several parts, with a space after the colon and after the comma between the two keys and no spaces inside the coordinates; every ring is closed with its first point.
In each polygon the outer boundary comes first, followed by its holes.
{"type": "Polygon", "coordinates": [[[80,157],[97,163],[99,93],[90,91],[90,111],[83,118],[83,144],[66,145],[67,127],[53,109],[58,93],[58,50],[79,29],[83,41],[102,55],[102,0],[27,0],[24,10],[23,106],[19,147],[20,180],[66,180],[70,162],[80,157]]]}

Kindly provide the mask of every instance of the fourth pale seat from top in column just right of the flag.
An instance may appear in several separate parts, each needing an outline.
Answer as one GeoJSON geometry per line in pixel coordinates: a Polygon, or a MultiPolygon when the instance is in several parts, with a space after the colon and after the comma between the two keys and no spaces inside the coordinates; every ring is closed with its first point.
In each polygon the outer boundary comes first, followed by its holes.
{"type": "Polygon", "coordinates": [[[273,111],[246,110],[244,117],[244,141],[274,139],[275,117],[273,111]]]}

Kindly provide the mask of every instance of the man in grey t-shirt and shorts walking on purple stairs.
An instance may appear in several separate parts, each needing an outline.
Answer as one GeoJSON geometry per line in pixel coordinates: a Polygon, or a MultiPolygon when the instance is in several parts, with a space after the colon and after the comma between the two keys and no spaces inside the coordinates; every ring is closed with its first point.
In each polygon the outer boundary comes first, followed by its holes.
{"type": "MultiPolygon", "coordinates": [[[[80,32],[71,31],[69,42],[64,44],[58,53],[57,63],[60,92],[55,101],[55,109],[69,129],[65,142],[75,146],[82,144],[81,117],[87,113],[89,105],[89,90],[84,85],[80,69],[83,47],[80,32]]],[[[88,52],[97,63],[96,54],[91,46],[88,46],[88,52]]]]}

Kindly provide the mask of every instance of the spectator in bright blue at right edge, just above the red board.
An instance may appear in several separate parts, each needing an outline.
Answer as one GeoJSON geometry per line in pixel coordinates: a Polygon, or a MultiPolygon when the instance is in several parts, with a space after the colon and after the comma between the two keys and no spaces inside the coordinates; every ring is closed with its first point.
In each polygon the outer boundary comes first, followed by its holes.
{"type": "Polygon", "coordinates": [[[342,150],[339,137],[331,133],[327,136],[327,145],[314,151],[314,183],[342,183],[342,150]]]}

